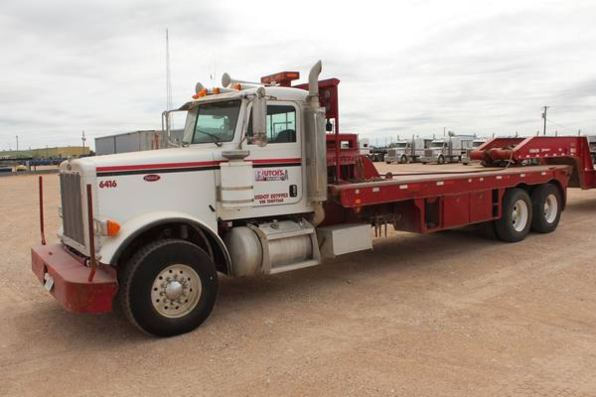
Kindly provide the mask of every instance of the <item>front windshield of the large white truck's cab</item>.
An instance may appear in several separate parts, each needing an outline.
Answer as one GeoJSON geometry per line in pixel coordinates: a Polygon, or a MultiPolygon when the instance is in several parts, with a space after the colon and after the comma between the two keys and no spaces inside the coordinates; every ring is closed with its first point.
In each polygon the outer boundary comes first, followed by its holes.
{"type": "Polygon", "coordinates": [[[234,138],[241,101],[210,102],[188,112],[185,141],[229,142],[234,138]]]}

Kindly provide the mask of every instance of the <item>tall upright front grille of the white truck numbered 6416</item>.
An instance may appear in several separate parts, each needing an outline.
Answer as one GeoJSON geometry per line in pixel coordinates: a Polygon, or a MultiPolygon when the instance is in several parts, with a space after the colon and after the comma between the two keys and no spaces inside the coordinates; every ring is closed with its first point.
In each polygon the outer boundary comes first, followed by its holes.
{"type": "Polygon", "coordinates": [[[85,245],[83,233],[83,205],[80,196],[80,175],[60,174],[62,222],[64,236],[85,245]]]}

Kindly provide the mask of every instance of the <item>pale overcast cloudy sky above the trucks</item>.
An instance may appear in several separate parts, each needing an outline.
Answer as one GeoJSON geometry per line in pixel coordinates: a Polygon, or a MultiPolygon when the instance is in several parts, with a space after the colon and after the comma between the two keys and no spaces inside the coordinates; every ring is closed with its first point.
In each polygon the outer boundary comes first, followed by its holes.
{"type": "Polygon", "coordinates": [[[174,105],[321,59],[372,143],[535,134],[543,105],[548,133],[596,135],[596,0],[1,0],[0,150],[159,128],[166,27],[174,105]]]}

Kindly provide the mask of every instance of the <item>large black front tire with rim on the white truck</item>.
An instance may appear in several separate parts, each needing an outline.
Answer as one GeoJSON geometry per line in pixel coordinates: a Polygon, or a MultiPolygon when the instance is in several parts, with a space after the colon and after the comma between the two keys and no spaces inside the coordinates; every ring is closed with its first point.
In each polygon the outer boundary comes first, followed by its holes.
{"type": "Polygon", "coordinates": [[[218,293],[213,260],[185,240],[158,240],[126,264],[120,286],[126,317],[144,332],[173,336],[209,317],[218,293]]]}

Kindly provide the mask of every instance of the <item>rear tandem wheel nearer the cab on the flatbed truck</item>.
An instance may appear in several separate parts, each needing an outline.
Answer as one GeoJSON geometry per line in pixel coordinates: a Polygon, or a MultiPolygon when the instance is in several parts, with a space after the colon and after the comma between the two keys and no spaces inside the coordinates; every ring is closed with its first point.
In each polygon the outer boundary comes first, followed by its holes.
{"type": "Polygon", "coordinates": [[[532,225],[532,201],[526,190],[507,189],[503,196],[501,218],[495,221],[497,237],[507,242],[526,238],[532,225]]]}

